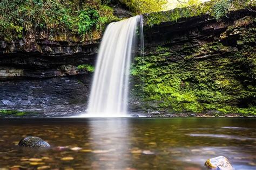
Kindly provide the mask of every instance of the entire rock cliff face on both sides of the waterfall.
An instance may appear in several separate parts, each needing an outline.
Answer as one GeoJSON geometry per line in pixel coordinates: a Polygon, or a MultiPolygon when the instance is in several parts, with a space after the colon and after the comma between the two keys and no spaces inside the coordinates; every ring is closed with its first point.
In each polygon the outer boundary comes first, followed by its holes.
{"type": "MultiPolygon", "coordinates": [[[[145,26],[132,66],[131,110],[255,111],[255,12],[145,26]],[[235,108],[232,110],[232,108],[235,108]],[[239,110],[240,109],[240,110],[239,110]]],[[[80,42],[39,32],[0,44],[0,109],[84,111],[100,35],[80,42]]]]}

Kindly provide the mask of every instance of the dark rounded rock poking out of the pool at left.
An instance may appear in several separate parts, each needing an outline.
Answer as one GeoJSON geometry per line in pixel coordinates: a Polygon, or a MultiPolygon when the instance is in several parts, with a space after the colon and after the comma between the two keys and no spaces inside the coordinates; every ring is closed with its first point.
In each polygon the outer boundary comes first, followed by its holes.
{"type": "Polygon", "coordinates": [[[49,143],[41,138],[35,136],[28,136],[19,141],[18,146],[32,147],[32,148],[46,148],[51,147],[49,143]]]}

